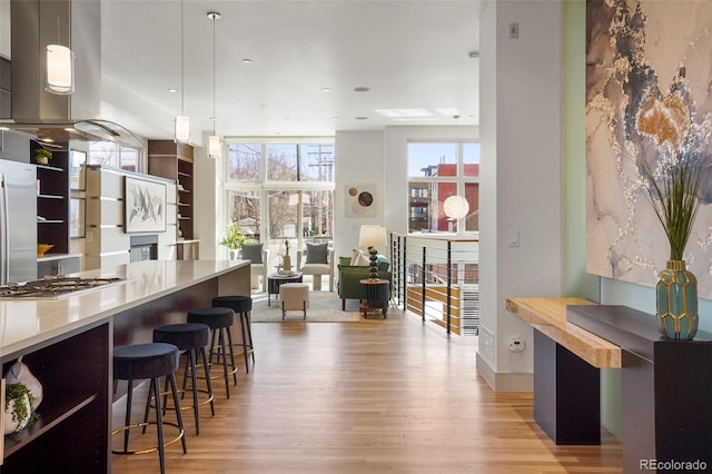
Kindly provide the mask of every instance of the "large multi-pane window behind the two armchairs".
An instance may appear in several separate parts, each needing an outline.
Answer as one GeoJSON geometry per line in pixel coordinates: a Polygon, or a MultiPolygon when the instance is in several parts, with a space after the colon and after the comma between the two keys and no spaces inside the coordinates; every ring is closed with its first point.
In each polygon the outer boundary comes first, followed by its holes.
{"type": "MultiPolygon", "coordinates": [[[[284,240],[330,240],[334,231],[334,144],[226,140],[227,224],[266,244],[276,266],[284,240]]],[[[296,263],[296,255],[291,256],[296,263]]]]}

